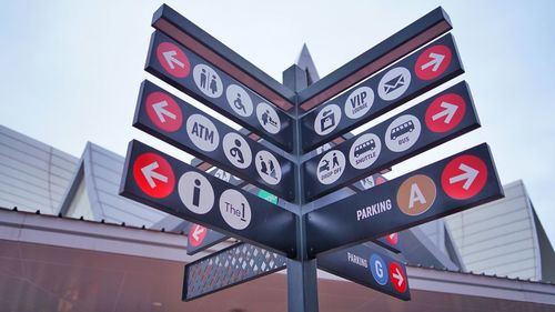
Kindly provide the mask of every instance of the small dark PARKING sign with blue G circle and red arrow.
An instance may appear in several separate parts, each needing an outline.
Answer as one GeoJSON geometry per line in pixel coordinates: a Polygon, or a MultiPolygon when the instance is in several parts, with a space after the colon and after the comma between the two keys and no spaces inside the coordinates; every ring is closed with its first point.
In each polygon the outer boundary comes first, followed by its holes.
{"type": "Polygon", "coordinates": [[[395,298],[411,300],[404,261],[374,243],[319,255],[317,268],[395,298]]]}

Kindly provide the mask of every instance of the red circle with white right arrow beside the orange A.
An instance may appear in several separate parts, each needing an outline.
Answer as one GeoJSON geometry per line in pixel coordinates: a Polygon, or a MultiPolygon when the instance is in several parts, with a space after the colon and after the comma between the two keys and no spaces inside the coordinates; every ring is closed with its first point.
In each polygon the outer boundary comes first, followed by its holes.
{"type": "Polygon", "coordinates": [[[442,188],[447,195],[465,200],[476,195],[487,181],[487,167],[475,155],[461,155],[442,172],[442,188]]]}

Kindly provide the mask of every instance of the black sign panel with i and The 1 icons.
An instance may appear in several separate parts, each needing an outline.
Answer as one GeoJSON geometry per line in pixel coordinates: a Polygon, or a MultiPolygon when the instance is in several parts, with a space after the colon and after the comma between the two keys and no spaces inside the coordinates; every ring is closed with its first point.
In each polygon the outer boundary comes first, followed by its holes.
{"type": "Polygon", "coordinates": [[[295,254],[295,214],[139,141],[129,144],[120,194],[253,244],[295,254]]]}

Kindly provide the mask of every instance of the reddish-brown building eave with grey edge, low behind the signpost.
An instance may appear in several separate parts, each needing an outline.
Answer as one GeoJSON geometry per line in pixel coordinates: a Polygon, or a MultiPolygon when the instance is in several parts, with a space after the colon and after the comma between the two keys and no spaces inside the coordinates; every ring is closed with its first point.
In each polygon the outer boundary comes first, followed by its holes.
{"type": "MultiPolygon", "coordinates": [[[[2,306],[14,311],[284,311],[281,273],[181,302],[181,233],[0,209],[2,306]],[[240,310],[234,310],[240,309],[240,310]]],[[[229,244],[229,242],[226,243],[229,244]]],[[[326,311],[553,311],[555,285],[434,268],[407,268],[412,301],[403,302],[319,272],[326,311]]]]}

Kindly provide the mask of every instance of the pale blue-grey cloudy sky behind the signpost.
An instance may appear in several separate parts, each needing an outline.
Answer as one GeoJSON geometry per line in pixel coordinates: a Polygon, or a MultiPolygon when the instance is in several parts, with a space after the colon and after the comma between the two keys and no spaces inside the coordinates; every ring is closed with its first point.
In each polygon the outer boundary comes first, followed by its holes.
{"type": "MultiPolygon", "coordinates": [[[[77,157],[87,141],[120,154],[131,139],[172,150],[131,127],[143,79],[174,90],[143,71],[152,13],[161,3],[2,3],[0,123],[77,157]]],[[[442,6],[451,16],[466,73],[440,90],[466,80],[482,128],[394,172],[488,142],[502,182],[524,180],[555,241],[554,1],[167,3],[280,81],[303,42],[323,77],[442,6]]]]}

